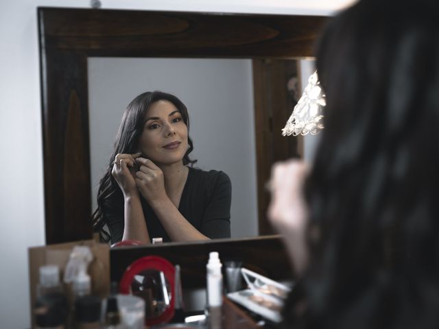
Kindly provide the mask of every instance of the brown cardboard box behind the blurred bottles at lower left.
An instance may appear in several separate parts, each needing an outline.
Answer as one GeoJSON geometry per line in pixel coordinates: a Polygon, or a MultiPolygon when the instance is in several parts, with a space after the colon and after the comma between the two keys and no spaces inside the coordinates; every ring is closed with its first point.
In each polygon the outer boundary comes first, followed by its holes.
{"type": "MultiPolygon", "coordinates": [[[[86,245],[93,253],[93,260],[88,265],[88,274],[91,276],[91,290],[93,295],[101,298],[110,293],[110,246],[105,243],[97,243],[93,240],[61,243],[58,245],[45,245],[42,247],[30,247],[29,258],[29,289],[30,289],[30,310],[36,299],[36,285],[38,284],[39,268],[42,265],[58,265],[60,268],[60,281],[64,277],[64,269],[69,260],[70,253],[75,245],[86,245]]],[[[64,284],[64,291],[67,292],[68,300],[72,300],[71,285],[64,284]]],[[[32,328],[34,328],[34,317],[32,328]]]]}

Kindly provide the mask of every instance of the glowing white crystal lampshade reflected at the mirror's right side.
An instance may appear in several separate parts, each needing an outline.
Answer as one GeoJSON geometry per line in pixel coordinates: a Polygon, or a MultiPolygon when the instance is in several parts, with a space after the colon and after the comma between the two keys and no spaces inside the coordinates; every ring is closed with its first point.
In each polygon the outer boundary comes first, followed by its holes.
{"type": "Polygon", "coordinates": [[[320,82],[318,81],[317,71],[308,79],[307,88],[303,92],[287,124],[282,130],[283,136],[315,135],[323,129],[322,109],[326,106],[326,100],[320,82]]]}

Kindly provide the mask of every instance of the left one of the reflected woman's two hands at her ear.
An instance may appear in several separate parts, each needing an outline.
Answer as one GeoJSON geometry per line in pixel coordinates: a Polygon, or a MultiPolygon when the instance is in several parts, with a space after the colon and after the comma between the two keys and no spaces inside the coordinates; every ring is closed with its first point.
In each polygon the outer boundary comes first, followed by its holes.
{"type": "Polygon", "coordinates": [[[136,158],[139,158],[140,155],[140,153],[117,154],[115,157],[111,175],[115,178],[123,195],[126,197],[138,193],[135,181],[134,164],[136,164],[136,158]]]}

